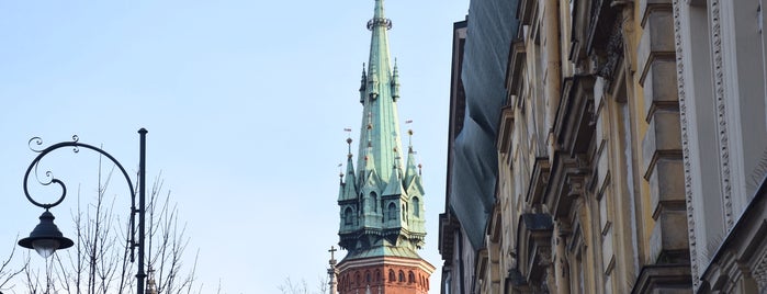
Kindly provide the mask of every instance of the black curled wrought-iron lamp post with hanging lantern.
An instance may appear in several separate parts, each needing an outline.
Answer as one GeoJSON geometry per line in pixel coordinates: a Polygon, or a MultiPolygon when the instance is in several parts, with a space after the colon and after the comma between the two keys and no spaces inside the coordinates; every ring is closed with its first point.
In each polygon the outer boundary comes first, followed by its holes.
{"type": "MultiPolygon", "coordinates": [[[[61,231],[58,230],[58,227],[56,227],[56,225],[54,224],[55,217],[49,212],[52,207],[60,204],[61,201],[64,201],[64,199],[67,196],[67,186],[64,184],[64,182],[53,177],[53,173],[50,173],[50,171],[46,172],[46,176],[49,177],[49,179],[46,182],[42,182],[38,180],[40,183],[43,185],[49,185],[55,183],[58,184],[59,188],[61,188],[61,195],[58,197],[58,200],[56,200],[53,203],[40,203],[32,199],[32,195],[30,195],[30,191],[26,188],[26,184],[32,170],[35,169],[36,172],[36,167],[40,163],[40,160],[53,150],[65,147],[71,147],[74,148],[75,152],[79,152],[80,148],[97,151],[112,160],[112,162],[120,169],[120,171],[123,173],[123,177],[125,177],[125,180],[128,183],[128,188],[131,190],[131,262],[135,261],[134,249],[138,248],[138,272],[136,273],[136,293],[145,294],[144,280],[146,279],[146,272],[144,271],[144,220],[146,211],[146,189],[144,186],[146,183],[146,133],[147,131],[145,128],[138,129],[138,134],[140,137],[138,156],[138,207],[136,207],[136,193],[134,190],[134,184],[133,181],[131,181],[131,177],[128,177],[128,173],[125,171],[125,168],[123,168],[123,166],[120,165],[120,162],[116,159],[114,159],[112,155],[108,154],[101,148],[79,143],[79,138],[77,136],[72,136],[71,142],[57,143],[42,150],[32,149],[33,151],[38,152],[40,155],[37,155],[37,157],[35,157],[35,159],[32,160],[32,163],[30,163],[30,167],[26,169],[26,173],[24,174],[24,194],[32,204],[45,208],[45,212],[43,212],[43,215],[40,216],[40,224],[32,230],[32,233],[30,233],[30,237],[19,240],[19,246],[29,249],[35,249],[35,251],[37,251],[37,253],[40,253],[43,258],[47,258],[50,255],[53,255],[57,249],[66,249],[75,244],[72,242],[72,240],[68,239],[67,237],[64,237],[61,231]],[[138,242],[136,242],[136,214],[138,214],[138,242]]],[[[34,137],[30,139],[30,144],[33,144],[33,142],[37,145],[43,144],[43,140],[40,137],[34,137]]]]}

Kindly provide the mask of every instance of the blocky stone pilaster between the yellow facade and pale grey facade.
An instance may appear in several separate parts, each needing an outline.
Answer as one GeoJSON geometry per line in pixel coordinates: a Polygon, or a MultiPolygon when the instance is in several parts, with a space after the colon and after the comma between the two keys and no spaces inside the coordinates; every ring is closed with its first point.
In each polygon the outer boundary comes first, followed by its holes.
{"type": "Polygon", "coordinates": [[[670,0],[639,1],[642,37],[636,63],[643,88],[647,131],[642,139],[641,172],[650,184],[652,227],[648,257],[635,293],[689,293],[689,238],[676,77],[674,14],[670,0]],[[638,292],[639,291],[639,292],[638,292]]]}

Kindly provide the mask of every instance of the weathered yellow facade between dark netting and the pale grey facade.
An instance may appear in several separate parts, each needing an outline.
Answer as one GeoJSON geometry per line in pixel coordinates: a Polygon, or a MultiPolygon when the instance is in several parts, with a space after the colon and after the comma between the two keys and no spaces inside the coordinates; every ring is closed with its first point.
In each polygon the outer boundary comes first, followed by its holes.
{"type": "Polygon", "coordinates": [[[488,264],[511,281],[482,293],[689,291],[673,10],[661,2],[519,2],[487,231],[488,264]]]}

